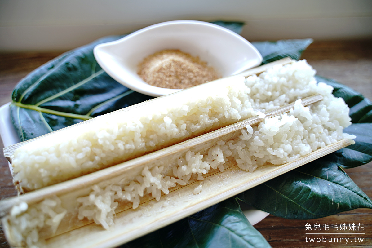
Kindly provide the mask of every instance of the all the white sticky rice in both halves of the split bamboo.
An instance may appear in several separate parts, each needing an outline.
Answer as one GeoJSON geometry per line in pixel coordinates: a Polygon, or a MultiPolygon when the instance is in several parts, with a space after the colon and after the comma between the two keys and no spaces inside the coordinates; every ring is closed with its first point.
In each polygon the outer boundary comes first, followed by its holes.
{"type": "MultiPolygon", "coordinates": [[[[169,194],[177,184],[202,181],[210,171],[222,172],[231,162],[237,164],[237,173],[251,173],[263,165],[294,161],[341,139],[354,144],[355,136],[343,133],[343,128],[351,124],[349,107],[333,96],[331,86],[316,82],[314,75],[304,60],[275,65],[259,75],[202,84],[20,146],[12,161],[14,177],[24,189],[33,190],[241,119],[256,115],[263,118],[264,112],[295,102],[288,113],[247,125],[237,138],[219,140],[206,151],[188,150],[166,165],[144,164],[138,174],[124,173],[94,184],[84,191],[87,194],[54,196],[31,206],[21,202],[3,221],[6,235],[14,246],[43,247],[44,238],[55,233],[61,222],[88,219],[109,229],[121,204],[129,202],[136,209],[141,198],[150,194],[160,200],[161,194],[169,194]],[[323,100],[304,107],[301,99],[316,93],[323,100]],[[68,219],[71,216],[75,219],[68,219]]],[[[199,184],[193,194],[203,190],[199,184]]]]}

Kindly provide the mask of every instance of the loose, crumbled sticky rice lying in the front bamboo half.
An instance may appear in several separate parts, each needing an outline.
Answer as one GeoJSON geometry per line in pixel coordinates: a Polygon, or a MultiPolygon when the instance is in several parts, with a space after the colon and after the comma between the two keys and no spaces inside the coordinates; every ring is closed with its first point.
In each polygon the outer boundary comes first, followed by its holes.
{"type": "MultiPolygon", "coordinates": [[[[21,202],[14,206],[3,220],[4,230],[13,245],[26,244],[27,247],[44,247],[45,234],[55,235],[65,216],[67,219],[63,220],[64,223],[88,219],[110,230],[110,227],[115,225],[115,214],[123,210],[121,207],[126,205],[126,202],[131,202],[132,208],[137,209],[140,202],[146,202],[143,197],[147,200],[160,200],[161,194],[169,194],[177,184],[185,186],[190,181],[202,181],[204,177],[208,177],[210,171],[218,170],[222,173],[225,166],[230,168],[231,164],[237,164],[239,168],[236,174],[234,173],[236,176],[245,173],[244,171],[253,172],[267,164],[294,161],[317,150],[319,146],[334,144],[339,139],[354,138],[352,135],[334,131],[325,136],[324,142],[321,141],[324,133],[321,133],[319,128],[327,123],[327,117],[317,118],[318,110],[312,105],[304,107],[299,99],[289,113],[264,119],[256,125],[246,125],[241,128],[241,135],[237,138],[219,140],[206,151],[188,150],[179,158],[174,157],[175,160],[167,159],[166,166],[145,164],[143,170],[137,171],[137,175],[128,177],[124,173],[122,176],[101,181],[89,186],[90,193],[80,197],[74,196],[71,191],[70,196],[62,196],[61,199],[54,196],[31,206],[21,202]],[[134,179],[129,179],[132,177],[134,179]],[[151,197],[147,198],[150,194],[151,197]],[[74,215],[76,210],[78,213],[74,215]],[[71,216],[75,216],[74,219],[71,219],[71,216]]],[[[324,130],[325,133],[328,132],[327,129],[324,130]]],[[[159,164],[162,162],[159,161],[159,164]]],[[[200,194],[202,191],[203,186],[200,183],[195,186],[192,194],[200,194]]],[[[173,207],[176,202],[169,198],[163,202],[162,207],[173,207]]],[[[141,215],[144,213],[143,208],[139,211],[141,215]]]]}

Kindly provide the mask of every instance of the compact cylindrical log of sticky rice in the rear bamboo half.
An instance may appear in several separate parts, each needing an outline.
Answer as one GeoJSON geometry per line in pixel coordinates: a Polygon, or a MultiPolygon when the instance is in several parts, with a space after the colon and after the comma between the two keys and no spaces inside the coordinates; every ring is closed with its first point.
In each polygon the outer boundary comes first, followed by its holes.
{"type": "MultiPolygon", "coordinates": [[[[327,137],[335,135],[332,133],[342,137],[342,129],[351,122],[343,99],[331,94],[331,86],[317,83],[314,75],[315,70],[305,60],[296,61],[276,65],[260,75],[223,78],[129,107],[126,111],[98,116],[83,125],[51,133],[17,148],[12,160],[14,180],[23,191],[32,191],[315,93],[324,98],[314,104],[324,124],[316,137],[311,136],[317,141],[317,145],[312,146],[324,146],[328,143],[327,137]]],[[[312,121],[306,125],[312,125],[312,121]]]]}

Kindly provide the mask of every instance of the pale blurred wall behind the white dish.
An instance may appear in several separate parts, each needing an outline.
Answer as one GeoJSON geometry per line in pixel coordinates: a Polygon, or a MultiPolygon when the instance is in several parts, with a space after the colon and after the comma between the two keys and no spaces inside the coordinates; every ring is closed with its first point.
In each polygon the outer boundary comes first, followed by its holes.
{"type": "Polygon", "coordinates": [[[0,51],[67,50],[168,20],[235,20],[249,41],[372,37],[372,0],[0,0],[0,51]]]}

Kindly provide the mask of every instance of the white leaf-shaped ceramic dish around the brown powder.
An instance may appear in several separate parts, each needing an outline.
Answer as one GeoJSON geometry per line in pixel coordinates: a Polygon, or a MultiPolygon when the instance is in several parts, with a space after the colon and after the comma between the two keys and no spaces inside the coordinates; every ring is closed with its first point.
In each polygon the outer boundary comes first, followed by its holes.
{"type": "Polygon", "coordinates": [[[137,65],[148,55],[164,49],[180,49],[199,56],[222,77],[241,73],[261,64],[262,56],[246,39],[221,26],[193,20],[158,23],[122,39],[94,48],[98,64],[124,86],[147,94],[163,96],[179,89],[151,86],[137,75],[137,65]]]}

